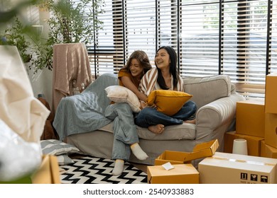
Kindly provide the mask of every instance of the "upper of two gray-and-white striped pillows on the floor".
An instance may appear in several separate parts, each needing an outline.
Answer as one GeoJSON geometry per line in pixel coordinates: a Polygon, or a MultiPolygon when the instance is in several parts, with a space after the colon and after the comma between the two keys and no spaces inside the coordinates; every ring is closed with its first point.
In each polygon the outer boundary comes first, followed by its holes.
{"type": "Polygon", "coordinates": [[[63,141],[57,139],[46,139],[40,141],[41,149],[43,154],[59,156],[69,153],[82,153],[79,148],[66,144],[63,141]]]}

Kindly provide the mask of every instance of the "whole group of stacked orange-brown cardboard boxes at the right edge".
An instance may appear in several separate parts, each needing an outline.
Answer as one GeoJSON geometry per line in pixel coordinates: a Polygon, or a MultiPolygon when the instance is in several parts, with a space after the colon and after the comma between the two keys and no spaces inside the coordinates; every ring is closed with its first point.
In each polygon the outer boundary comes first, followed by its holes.
{"type": "Polygon", "coordinates": [[[237,103],[236,132],[225,134],[225,153],[232,153],[234,139],[246,139],[249,156],[276,158],[276,83],[277,74],[267,75],[265,100],[245,100],[237,103]]]}

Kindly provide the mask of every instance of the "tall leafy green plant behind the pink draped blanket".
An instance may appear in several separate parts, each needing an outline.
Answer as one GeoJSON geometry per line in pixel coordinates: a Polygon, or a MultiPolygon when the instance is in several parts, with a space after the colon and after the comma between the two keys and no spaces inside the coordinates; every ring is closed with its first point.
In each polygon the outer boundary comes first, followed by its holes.
{"type": "Polygon", "coordinates": [[[37,69],[46,67],[51,70],[55,44],[75,42],[92,44],[94,31],[102,25],[102,21],[97,20],[98,14],[103,12],[102,4],[103,0],[81,0],[78,4],[72,0],[42,1],[40,6],[43,5],[51,14],[48,20],[50,30],[43,47],[38,48],[39,55],[32,63],[33,66],[37,69]]]}

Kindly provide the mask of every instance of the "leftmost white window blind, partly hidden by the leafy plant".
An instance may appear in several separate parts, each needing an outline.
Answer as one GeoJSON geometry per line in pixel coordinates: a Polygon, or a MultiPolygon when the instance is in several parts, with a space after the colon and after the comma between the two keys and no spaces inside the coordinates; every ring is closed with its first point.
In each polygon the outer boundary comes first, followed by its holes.
{"type": "Polygon", "coordinates": [[[122,1],[104,1],[104,13],[97,19],[102,29],[95,33],[95,42],[89,47],[92,74],[118,73],[124,65],[124,15],[122,1]]]}

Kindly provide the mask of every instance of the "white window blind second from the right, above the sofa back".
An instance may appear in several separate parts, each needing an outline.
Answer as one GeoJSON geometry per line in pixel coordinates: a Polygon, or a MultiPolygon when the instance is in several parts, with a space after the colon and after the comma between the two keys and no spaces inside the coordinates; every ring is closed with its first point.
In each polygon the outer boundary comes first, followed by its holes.
{"type": "Polygon", "coordinates": [[[180,4],[180,72],[187,76],[219,74],[219,1],[180,4]]]}

